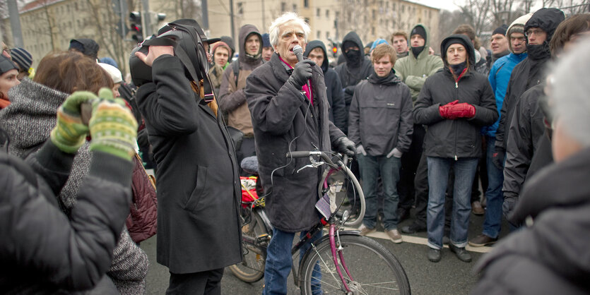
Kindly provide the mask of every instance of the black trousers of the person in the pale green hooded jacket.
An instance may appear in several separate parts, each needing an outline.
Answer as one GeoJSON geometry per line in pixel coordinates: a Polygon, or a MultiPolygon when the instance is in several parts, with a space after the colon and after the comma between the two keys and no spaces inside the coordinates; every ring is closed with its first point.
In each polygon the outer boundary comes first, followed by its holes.
{"type": "Polygon", "coordinates": [[[401,156],[401,170],[397,185],[397,191],[399,193],[398,207],[400,210],[410,210],[415,203],[414,179],[418,170],[418,164],[420,163],[420,157],[422,156],[425,134],[426,131],[422,125],[414,124],[410,149],[401,156]]]}

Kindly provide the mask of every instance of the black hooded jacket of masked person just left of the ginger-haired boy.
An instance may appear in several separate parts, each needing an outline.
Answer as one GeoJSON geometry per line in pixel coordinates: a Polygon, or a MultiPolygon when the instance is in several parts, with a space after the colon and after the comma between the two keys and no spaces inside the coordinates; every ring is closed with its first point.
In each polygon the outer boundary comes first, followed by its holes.
{"type": "MultiPolygon", "coordinates": [[[[348,108],[350,108],[350,102],[353,100],[353,94],[355,93],[356,85],[371,75],[373,72],[373,66],[371,61],[365,57],[362,41],[360,41],[360,37],[358,37],[356,32],[348,32],[348,34],[344,36],[342,40],[342,52],[344,52],[343,46],[345,42],[353,42],[358,46],[358,59],[360,60],[358,67],[353,67],[351,64],[349,64],[346,54],[342,54],[346,60],[346,63],[339,64],[336,66],[336,68],[334,68],[336,73],[338,73],[338,76],[340,76],[340,81],[344,91],[344,102],[346,103],[346,114],[348,115],[348,108]]],[[[347,131],[344,132],[346,133],[347,131]]]]}

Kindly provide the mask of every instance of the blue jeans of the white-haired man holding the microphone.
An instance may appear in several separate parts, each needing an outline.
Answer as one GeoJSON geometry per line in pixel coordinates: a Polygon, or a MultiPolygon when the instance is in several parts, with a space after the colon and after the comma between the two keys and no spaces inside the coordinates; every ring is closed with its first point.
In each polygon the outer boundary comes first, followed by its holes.
{"type": "MultiPolygon", "coordinates": [[[[300,238],[305,236],[305,231],[302,231],[300,238]]],[[[309,249],[310,243],[321,238],[322,234],[319,231],[311,241],[303,246],[299,253],[299,260],[303,258],[305,251],[309,249]]],[[[291,248],[293,248],[293,238],[295,233],[281,231],[280,229],[273,229],[273,237],[266,248],[266,265],[264,265],[264,290],[263,295],[270,294],[287,294],[287,278],[291,272],[291,248]]],[[[319,272],[319,265],[315,265],[314,272],[319,272]]],[[[319,286],[319,282],[312,282],[312,284],[319,286]]],[[[319,289],[319,288],[318,288],[319,289]]],[[[321,290],[313,290],[313,294],[321,294],[321,290]],[[319,293],[317,293],[319,292],[319,293]]]]}

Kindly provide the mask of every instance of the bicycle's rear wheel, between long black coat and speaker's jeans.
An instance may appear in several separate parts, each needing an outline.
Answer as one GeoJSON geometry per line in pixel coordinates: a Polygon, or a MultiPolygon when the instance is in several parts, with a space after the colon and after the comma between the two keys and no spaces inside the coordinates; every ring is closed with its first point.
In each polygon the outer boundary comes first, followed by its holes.
{"type": "Polygon", "coordinates": [[[270,241],[271,233],[266,229],[261,217],[262,212],[262,209],[255,209],[252,212],[252,221],[242,227],[244,260],[228,267],[235,277],[243,282],[258,282],[264,277],[266,245],[270,241]]]}

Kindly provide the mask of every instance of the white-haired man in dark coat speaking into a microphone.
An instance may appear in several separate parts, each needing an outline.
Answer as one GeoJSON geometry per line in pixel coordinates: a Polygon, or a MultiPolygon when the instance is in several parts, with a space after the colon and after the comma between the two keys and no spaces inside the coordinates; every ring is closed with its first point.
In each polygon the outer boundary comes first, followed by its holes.
{"type": "MultiPolygon", "coordinates": [[[[287,159],[287,152],[321,150],[350,156],[355,145],[328,119],[324,73],[296,52],[305,49],[309,26],[285,13],[269,28],[274,54],[246,80],[246,100],[256,140],[259,175],[273,236],[266,255],[263,294],[287,294],[291,246],[296,232],[320,219],[315,209],[320,169],[297,170],[309,159],[287,159]],[[295,50],[295,47],[298,50],[295,50]]],[[[316,238],[318,238],[317,236],[316,238]]],[[[305,253],[303,249],[300,253],[305,253]]]]}

